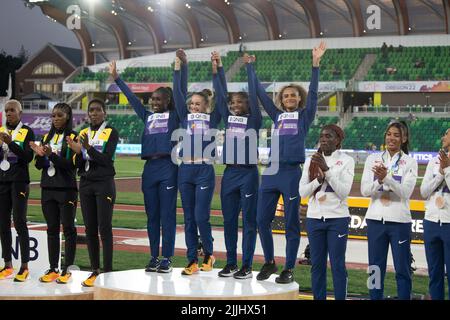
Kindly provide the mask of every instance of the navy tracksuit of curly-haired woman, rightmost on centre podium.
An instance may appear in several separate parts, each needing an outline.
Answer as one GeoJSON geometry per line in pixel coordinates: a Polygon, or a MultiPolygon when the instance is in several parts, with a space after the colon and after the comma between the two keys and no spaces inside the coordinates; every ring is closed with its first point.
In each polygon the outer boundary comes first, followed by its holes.
{"type": "MultiPolygon", "coordinates": [[[[305,162],[305,138],[317,111],[317,90],[319,84],[319,68],[312,68],[306,108],[283,113],[267,96],[265,89],[256,77],[253,66],[248,69],[248,76],[254,81],[256,92],[262,105],[275,123],[276,135],[279,138],[279,170],[274,175],[262,176],[258,192],[257,224],[264,250],[266,262],[274,259],[271,223],[275,217],[275,209],[283,195],[286,225],[286,263],[285,269],[293,269],[300,246],[300,195],[298,186],[301,178],[300,165],[305,162]],[[287,114],[287,118],[285,117],[287,114]],[[289,118],[294,116],[296,119],[289,118]]],[[[274,139],[272,139],[271,159],[274,158],[274,139]]],[[[273,160],[272,160],[273,161],[273,160]]]]}

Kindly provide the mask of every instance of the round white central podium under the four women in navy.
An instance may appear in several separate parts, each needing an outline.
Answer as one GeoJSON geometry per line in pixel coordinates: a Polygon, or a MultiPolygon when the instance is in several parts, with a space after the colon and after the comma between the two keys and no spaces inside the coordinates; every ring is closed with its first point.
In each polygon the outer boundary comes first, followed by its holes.
{"type": "Polygon", "coordinates": [[[277,275],[264,281],[221,278],[220,269],[185,276],[182,268],[171,273],[145,272],[143,269],[101,274],[95,281],[95,300],[294,300],[299,286],[278,284],[277,275]]]}

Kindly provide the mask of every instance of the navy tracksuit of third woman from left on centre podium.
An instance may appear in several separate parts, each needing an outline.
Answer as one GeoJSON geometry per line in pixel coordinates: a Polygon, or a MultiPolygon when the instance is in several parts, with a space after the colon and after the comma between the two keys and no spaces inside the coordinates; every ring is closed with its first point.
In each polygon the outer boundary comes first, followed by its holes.
{"type": "MultiPolygon", "coordinates": [[[[247,65],[247,68],[249,66],[247,65]]],[[[262,115],[256,97],[250,97],[250,114],[236,117],[231,114],[227,103],[227,83],[222,67],[213,77],[218,108],[225,122],[226,134],[222,161],[226,169],[222,177],[220,199],[224,218],[227,264],[237,265],[238,218],[242,209],[243,239],[242,265],[251,267],[256,245],[256,205],[258,196],[258,139],[262,115]],[[253,139],[245,137],[252,129],[253,139]],[[256,139],[254,139],[256,137],[256,139]],[[253,144],[252,144],[253,143],[253,144]],[[240,157],[242,156],[242,159],[240,157]],[[253,158],[253,159],[252,159],[253,158]]],[[[249,86],[253,83],[249,82],[249,86]]]]}

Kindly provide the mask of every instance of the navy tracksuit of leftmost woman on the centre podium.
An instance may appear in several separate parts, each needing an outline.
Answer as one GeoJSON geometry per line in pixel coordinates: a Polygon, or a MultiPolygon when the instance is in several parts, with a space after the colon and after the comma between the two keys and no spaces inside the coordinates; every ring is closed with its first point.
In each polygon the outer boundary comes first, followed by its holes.
{"type": "Polygon", "coordinates": [[[120,78],[116,83],[145,125],[141,153],[141,158],[146,160],[142,173],[142,192],[151,256],[159,257],[162,228],[162,256],[169,258],[174,255],[175,250],[178,191],[178,166],[170,156],[175,146],[171,136],[179,127],[178,114],[175,110],[163,113],[147,111],[120,78]]]}

